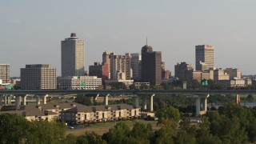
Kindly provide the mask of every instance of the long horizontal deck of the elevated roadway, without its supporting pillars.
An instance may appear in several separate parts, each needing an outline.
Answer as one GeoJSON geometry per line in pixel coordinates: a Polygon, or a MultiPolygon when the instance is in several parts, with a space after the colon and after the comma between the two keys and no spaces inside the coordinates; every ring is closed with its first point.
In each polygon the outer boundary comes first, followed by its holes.
{"type": "Polygon", "coordinates": [[[91,94],[91,95],[106,95],[106,94],[128,94],[128,95],[143,95],[143,94],[185,94],[185,95],[202,95],[202,94],[256,94],[256,90],[0,90],[0,94],[91,94]]]}

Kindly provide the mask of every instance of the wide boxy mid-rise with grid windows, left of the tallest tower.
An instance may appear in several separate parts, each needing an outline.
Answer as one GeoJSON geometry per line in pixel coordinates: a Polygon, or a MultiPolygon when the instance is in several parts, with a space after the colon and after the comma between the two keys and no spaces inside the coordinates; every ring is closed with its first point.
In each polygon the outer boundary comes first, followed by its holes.
{"type": "Polygon", "coordinates": [[[49,64],[26,65],[21,68],[22,90],[56,89],[56,68],[49,64]]]}

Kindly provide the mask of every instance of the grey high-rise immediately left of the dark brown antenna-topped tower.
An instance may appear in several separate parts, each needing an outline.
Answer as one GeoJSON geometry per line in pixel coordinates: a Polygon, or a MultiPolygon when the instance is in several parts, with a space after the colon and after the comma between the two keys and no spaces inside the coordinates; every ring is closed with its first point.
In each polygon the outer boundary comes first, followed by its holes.
{"type": "Polygon", "coordinates": [[[138,82],[141,78],[142,55],[139,53],[130,54],[130,68],[133,70],[133,79],[138,82]]]}

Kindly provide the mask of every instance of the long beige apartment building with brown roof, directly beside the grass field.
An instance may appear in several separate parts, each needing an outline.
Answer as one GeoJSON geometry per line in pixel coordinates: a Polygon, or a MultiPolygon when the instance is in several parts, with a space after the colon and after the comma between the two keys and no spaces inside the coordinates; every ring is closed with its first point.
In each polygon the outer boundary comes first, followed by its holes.
{"type": "Polygon", "coordinates": [[[75,106],[61,112],[60,119],[68,124],[91,122],[111,122],[131,118],[140,118],[140,107],[127,104],[107,106],[75,106]]]}

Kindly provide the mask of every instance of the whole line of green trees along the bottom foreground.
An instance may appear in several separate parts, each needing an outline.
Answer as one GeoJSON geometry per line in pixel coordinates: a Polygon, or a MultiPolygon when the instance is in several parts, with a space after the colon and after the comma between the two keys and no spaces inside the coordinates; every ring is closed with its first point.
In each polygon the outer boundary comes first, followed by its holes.
{"type": "Polygon", "coordinates": [[[130,129],[118,122],[105,134],[94,132],[65,135],[62,122],[29,122],[18,114],[0,114],[0,143],[247,143],[256,142],[256,109],[226,103],[209,110],[198,125],[182,117],[179,110],[167,106],[157,111],[158,130],[136,122],[130,129]]]}

